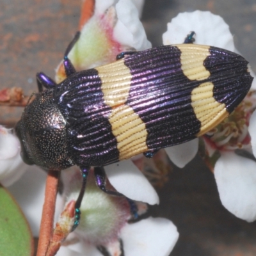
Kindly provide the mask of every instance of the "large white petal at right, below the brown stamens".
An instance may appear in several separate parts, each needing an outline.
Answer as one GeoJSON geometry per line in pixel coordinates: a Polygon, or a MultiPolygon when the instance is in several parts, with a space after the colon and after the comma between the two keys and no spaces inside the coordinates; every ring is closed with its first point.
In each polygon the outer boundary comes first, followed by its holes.
{"type": "Polygon", "coordinates": [[[221,203],[246,221],[256,220],[256,163],[233,152],[221,154],[214,176],[221,203]]]}

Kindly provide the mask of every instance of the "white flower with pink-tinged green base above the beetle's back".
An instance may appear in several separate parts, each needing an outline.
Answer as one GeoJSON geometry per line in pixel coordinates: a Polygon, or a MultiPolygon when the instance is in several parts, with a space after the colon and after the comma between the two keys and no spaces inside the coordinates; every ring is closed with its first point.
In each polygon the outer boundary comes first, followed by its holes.
{"type": "MultiPolygon", "coordinates": [[[[68,58],[77,71],[116,60],[122,51],[151,47],[138,10],[131,0],[96,1],[93,16],[81,26],[81,35],[68,58]]],[[[65,79],[62,61],[56,70],[56,81],[65,79]]]]}

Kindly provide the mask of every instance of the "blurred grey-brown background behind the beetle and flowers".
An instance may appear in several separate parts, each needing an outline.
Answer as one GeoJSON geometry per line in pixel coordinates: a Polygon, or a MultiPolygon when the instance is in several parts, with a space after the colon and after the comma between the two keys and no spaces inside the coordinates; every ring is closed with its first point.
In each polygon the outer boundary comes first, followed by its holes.
{"type": "MultiPolygon", "coordinates": [[[[0,0],[0,88],[36,91],[36,72],[54,77],[77,31],[81,0],[0,0]]],[[[142,21],[153,46],[162,44],[166,24],[179,12],[209,10],[229,24],[236,48],[256,72],[255,0],[145,0],[142,21]]],[[[0,107],[0,124],[12,126],[22,108],[0,107]]],[[[180,238],[172,256],[256,255],[256,223],[239,220],[222,205],[212,173],[200,157],[173,167],[157,189],[161,204],[153,216],[173,221],[180,238]]],[[[256,196],[256,195],[255,195],[256,196]]]]}

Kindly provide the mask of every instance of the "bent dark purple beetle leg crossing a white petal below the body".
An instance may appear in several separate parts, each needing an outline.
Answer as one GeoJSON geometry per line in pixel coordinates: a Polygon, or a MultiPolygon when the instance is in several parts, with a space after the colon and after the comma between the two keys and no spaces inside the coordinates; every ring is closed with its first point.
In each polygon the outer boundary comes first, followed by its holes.
{"type": "MultiPolygon", "coordinates": [[[[106,189],[106,173],[105,173],[105,170],[103,167],[95,167],[94,175],[95,175],[96,184],[102,191],[104,191],[108,195],[112,195],[112,196],[124,196],[122,193],[119,193],[117,191],[112,191],[112,190],[106,189]]],[[[134,219],[138,218],[137,205],[130,198],[127,198],[126,196],[124,196],[124,197],[126,198],[127,202],[130,205],[130,210],[131,210],[131,214],[132,214],[133,218],[134,219]]]]}

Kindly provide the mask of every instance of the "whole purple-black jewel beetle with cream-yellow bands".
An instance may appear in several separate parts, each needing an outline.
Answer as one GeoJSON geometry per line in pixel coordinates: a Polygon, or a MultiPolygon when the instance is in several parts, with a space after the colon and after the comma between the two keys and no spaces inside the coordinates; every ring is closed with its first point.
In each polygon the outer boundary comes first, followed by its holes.
{"type": "Polygon", "coordinates": [[[91,166],[97,186],[120,195],[106,189],[103,166],[205,134],[232,113],[253,80],[239,54],[195,44],[122,52],[113,63],[76,72],[67,56],[78,38],[65,52],[67,79],[56,84],[38,73],[40,92],[15,127],[26,163],[80,167],[74,228],[91,166]]]}

